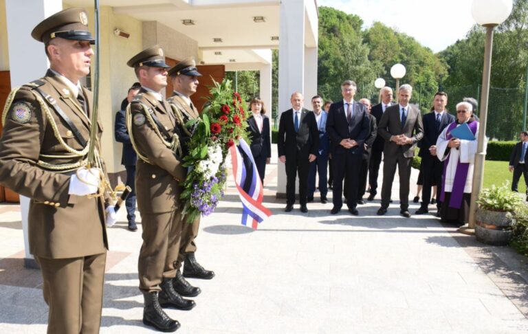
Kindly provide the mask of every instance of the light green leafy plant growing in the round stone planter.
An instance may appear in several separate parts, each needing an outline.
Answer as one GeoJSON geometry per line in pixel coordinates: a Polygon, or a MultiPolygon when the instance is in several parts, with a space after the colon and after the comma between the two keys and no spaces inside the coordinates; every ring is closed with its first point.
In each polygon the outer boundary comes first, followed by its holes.
{"type": "Polygon", "coordinates": [[[485,188],[478,194],[476,201],[481,208],[494,211],[514,212],[519,205],[522,205],[522,199],[517,192],[509,190],[509,182],[506,181],[502,186],[492,185],[485,188]]]}

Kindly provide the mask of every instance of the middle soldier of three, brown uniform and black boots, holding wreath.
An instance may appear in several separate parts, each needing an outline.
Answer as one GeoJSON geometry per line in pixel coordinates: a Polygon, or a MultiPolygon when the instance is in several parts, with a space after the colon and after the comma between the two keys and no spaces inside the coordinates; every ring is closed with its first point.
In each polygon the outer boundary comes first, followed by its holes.
{"type": "Polygon", "coordinates": [[[135,188],[143,226],[138,260],[145,300],[143,322],[160,331],[176,331],[179,322],[161,307],[195,307],[194,301],[181,298],[173,287],[181,238],[179,182],[186,175],[181,166],[181,129],[160,93],[167,85],[168,68],[162,48],[149,47],[126,64],[134,67],[142,85],[126,110],[126,125],[138,158],[135,188]]]}

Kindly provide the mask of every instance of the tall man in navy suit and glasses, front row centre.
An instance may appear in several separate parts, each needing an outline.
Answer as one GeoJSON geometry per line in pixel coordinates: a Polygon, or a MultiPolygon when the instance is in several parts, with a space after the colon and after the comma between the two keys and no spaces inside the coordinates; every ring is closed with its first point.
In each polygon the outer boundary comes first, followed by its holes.
{"type": "Polygon", "coordinates": [[[328,112],[327,133],[331,140],[333,168],[333,208],[331,214],[340,212],[343,205],[343,177],[347,179],[347,206],[358,215],[357,194],[361,159],[370,122],[363,104],[354,101],[355,82],[345,80],[341,85],[343,100],[333,103],[328,112]]]}

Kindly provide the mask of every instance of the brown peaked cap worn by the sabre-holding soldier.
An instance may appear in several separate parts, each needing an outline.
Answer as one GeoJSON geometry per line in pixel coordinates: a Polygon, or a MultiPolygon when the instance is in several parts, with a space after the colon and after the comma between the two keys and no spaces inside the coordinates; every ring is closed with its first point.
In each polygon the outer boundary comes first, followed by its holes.
{"type": "Polygon", "coordinates": [[[43,43],[48,43],[56,37],[96,43],[88,30],[88,16],[84,8],[68,8],[56,12],[36,25],[31,36],[43,43]]]}

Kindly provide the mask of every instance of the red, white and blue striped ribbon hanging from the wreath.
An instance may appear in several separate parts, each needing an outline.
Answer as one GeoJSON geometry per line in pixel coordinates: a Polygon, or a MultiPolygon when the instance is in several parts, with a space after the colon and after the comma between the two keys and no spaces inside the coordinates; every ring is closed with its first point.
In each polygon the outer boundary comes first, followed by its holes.
{"type": "Polygon", "coordinates": [[[264,191],[261,177],[248,143],[241,139],[239,145],[232,145],[229,151],[234,183],[243,206],[242,225],[251,226],[256,230],[259,223],[272,215],[272,212],[262,205],[264,191]]]}

